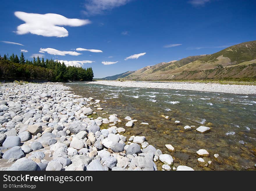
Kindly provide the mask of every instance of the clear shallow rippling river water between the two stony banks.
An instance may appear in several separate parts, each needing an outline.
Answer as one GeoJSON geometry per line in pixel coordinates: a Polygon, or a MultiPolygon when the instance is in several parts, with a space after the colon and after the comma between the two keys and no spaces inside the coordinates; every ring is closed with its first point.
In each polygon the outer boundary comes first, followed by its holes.
{"type": "MultiPolygon", "coordinates": [[[[174,166],[187,165],[195,170],[255,170],[256,163],[256,96],[190,90],[125,88],[108,85],[70,82],[65,85],[83,97],[106,100],[102,111],[92,117],[108,118],[117,114],[122,120],[127,139],[131,135],[145,136],[149,144],[170,154],[174,166]],[[105,107],[107,106],[107,107],[105,107]],[[105,115],[102,113],[108,112],[105,115]],[[132,128],[125,127],[124,118],[137,119],[132,128]],[[165,119],[161,115],[169,116],[165,119]],[[181,125],[176,125],[175,120],[181,125]],[[149,125],[142,125],[147,122],[149,125]],[[184,126],[192,127],[185,131],[184,126]],[[199,126],[211,128],[209,133],[195,131],[199,126]],[[170,152],[165,144],[171,144],[170,152]],[[206,149],[214,167],[199,165],[196,151],[206,149]],[[214,160],[214,154],[221,161],[214,160]]],[[[92,108],[95,110],[95,108],[92,108]]],[[[101,128],[109,125],[103,124],[101,128]]],[[[160,165],[160,164],[159,164],[160,165]]]]}

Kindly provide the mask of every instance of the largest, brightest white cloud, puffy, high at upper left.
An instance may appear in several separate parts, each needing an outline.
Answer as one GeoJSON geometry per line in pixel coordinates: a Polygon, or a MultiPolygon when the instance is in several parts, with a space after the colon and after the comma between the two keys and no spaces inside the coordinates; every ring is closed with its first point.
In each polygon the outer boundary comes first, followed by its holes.
{"type": "Polygon", "coordinates": [[[67,37],[67,29],[61,26],[82,26],[90,24],[88,19],[68,19],[54,13],[42,15],[16,11],[14,15],[25,22],[17,27],[16,33],[18,35],[31,33],[45,37],[67,37]]]}

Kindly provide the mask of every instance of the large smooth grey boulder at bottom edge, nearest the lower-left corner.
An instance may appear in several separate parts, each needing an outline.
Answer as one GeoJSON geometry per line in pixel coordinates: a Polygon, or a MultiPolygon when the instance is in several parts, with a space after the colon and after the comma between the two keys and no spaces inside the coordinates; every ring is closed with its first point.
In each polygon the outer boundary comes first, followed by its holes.
{"type": "Polygon", "coordinates": [[[7,170],[10,170],[10,171],[35,171],[37,166],[38,165],[33,160],[27,159],[27,158],[21,158],[21,159],[17,160],[7,170]]]}

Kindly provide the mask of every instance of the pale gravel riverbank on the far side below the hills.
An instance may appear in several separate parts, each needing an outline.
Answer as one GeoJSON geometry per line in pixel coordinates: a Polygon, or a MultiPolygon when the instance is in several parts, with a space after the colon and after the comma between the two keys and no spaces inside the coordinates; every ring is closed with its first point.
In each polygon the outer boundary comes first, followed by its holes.
{"type": "Polygon", "coordinates": [[[134,88],[161,88],[175,90],[193,90],[203,92],[222,92],[232,94],[256,94],[256,85],[146,81],[93,81],[89,83],[134,88]]]}

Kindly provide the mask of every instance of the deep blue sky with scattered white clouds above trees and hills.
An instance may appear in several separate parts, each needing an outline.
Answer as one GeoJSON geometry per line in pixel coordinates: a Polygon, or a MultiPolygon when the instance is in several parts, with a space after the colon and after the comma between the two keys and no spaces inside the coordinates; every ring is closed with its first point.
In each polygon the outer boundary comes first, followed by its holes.
{"type": "Polygon", "coordinates": [[[92,67],[95,78],[256,40],[255,0],[1,0],[0,54],[92,67]]]}

